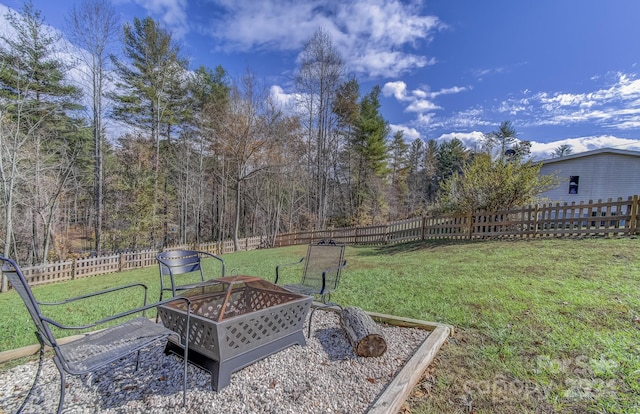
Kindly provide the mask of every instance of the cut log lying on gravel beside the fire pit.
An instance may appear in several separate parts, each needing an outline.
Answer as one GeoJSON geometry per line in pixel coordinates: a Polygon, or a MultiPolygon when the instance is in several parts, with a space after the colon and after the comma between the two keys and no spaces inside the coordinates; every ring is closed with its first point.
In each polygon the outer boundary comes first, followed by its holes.
{"type": "Polygon", "coordinates": [[[340,324],[347,333],[356,355],[378,357],[387,350],[387,341],[378,325],[360,308],[344,308],[340,324]]]}

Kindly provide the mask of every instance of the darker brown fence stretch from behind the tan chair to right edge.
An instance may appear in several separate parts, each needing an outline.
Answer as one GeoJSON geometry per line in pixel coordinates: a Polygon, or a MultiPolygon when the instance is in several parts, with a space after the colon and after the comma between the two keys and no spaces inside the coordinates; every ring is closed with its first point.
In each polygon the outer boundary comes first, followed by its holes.
{"type": "Polygon", "coordinates": [[[555,203],[469,215],[416,217],[385,225],[281,234],[275,246],[333,239],[347,244],[388,244],[434,239],[619,237],[638,233],[638,196],[588,203],[555,203]]]}

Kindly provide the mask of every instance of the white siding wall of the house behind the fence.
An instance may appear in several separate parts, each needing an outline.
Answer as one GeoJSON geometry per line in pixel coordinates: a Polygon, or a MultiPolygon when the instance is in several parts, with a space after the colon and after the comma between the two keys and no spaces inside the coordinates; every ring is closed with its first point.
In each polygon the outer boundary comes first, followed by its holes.
{"type": "Polygon", "coordinates": [[[556,174],[560,186],[541,194],[547,202],[576,204],[640,194],[640,152],[596,150],[543,161],[540,174],[556,174]],[[569,194],[569,177],[580,177],[578,193],[569,194]]]}

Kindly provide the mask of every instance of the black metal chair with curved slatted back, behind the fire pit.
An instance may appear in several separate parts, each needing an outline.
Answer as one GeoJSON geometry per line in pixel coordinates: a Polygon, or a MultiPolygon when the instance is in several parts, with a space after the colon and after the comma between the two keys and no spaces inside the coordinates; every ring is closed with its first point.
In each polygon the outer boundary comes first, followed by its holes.
{"type": "Polygon", "coordinates": [[[180,291],[193,289],[206,283],[202,271],[202,259],[206,257],[213,257],[220,262],[220,277],[224,277],[224,260],[215,254],[197,250],[168,250],[158,254],[156,259],[160,266],[160,300],[162,300],[165,291],[170,291],[172,296],[176,296],[180,291]],[[192,272],[200,273],[200,281],[186,284],[178,283],[176,276],[192,272]]]}

